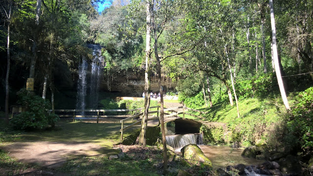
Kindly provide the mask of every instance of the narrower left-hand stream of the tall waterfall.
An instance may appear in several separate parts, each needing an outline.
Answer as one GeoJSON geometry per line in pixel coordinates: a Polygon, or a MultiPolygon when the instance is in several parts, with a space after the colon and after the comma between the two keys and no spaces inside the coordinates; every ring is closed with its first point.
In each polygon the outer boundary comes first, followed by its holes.
{"type": "Polygon", "coordinates": [[[78,85],[77,85],[77,110],[85,110],[86,108],[86,93],[87,93],[87,68],[88,63],[86,58],[83,57],[82,63],[78,67],[78,85]]]}

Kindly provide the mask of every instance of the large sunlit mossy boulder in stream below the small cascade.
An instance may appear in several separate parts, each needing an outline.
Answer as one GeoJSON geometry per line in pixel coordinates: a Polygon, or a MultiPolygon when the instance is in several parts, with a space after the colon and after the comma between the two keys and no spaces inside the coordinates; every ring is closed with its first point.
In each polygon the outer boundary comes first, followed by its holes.
{"type": "Polygon", "coordinates": [[[195,144],[189,144],[181,149],[181,153],[184,159],[187,159],[190,163],[212,169],[212,163],[208,157],[206,157],[201,149],[195,144]]]}

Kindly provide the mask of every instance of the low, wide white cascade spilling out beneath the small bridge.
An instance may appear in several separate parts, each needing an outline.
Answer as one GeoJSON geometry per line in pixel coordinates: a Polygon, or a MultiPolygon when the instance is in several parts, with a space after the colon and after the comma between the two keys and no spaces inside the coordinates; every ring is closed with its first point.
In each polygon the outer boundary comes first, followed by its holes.
{"type": "Polygon", "coordinates": [[[167,145],[173,147],[175,150],[181,149],[188,144],[202,145],[201,133],[176,134],[166,136],[167,145]]]}

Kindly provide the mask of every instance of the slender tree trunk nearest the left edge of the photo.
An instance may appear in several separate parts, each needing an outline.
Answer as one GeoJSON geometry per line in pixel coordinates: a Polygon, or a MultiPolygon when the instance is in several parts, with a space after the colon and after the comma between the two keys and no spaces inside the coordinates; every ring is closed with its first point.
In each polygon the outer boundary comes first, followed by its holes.
{"type": "Polygon", "coordinates": [[[10,23],[12,15],[12,0],[10,0],[8,19],[8,38],[7,38],[7,66],[6,66],[6,76],[5,76],[5,123],[9,123],[9,74],[10,74],[10,23]]]}

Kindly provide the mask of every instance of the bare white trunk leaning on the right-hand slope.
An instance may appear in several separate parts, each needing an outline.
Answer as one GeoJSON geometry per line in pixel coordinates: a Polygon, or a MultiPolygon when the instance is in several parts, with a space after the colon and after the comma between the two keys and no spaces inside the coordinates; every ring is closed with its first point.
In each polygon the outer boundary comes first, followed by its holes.
{"type": "Polygon", "coordinates": [[[275,63],[275,72],[276,72],[277,82],[278,82],[280,94],[282,96],[285,108],[286,110],[290,110],[289,102],[286,96],[286,92],[285,92],[285,88],[284,88],[284,84],[283,84],[283,80],[282,80],[281,72],[279,68],[273,0],[269,0],[269,8],[270,8],[270,24],[272,28],[273,58],[274,58],[274,63],[275,63]]]}

